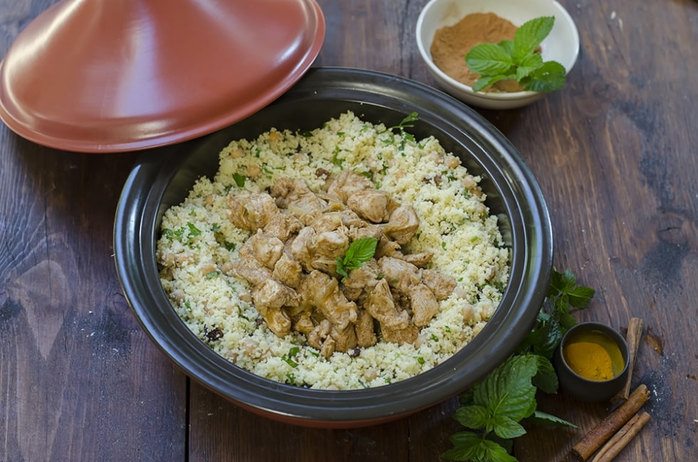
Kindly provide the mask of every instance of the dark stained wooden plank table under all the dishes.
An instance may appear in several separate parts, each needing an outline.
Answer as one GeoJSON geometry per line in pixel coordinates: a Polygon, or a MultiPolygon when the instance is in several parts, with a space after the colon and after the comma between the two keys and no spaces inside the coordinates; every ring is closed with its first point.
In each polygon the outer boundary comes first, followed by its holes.
{"type": "MultiPolygon", "coordinates": [[[[0,56],[56,0],[0,3],[0,56]]],[[[320,0],[317,66],[434,84],[415,46],[426,0],[320,0]]],[[[554,264],[597,289],[575,313],[645,320],[634,385],[650,423],[618,461],[694,460],[698,440],[698,3],[562,0],[580,57],[562,91],[480,111],[519,148],[551,211],[554,264]]],[[[173,7],[175,3],[173,3],[173,7]]],[[[287,426],[187,379],[140,329],[113,263],[115,205],[136,153],[43,148],[0,128],[1,461],[438,461],[452,399],[352,430],[287,426]]],[[[520,461],[557,461],[605,416],[565,393],[539,409],[520,461]]]]}

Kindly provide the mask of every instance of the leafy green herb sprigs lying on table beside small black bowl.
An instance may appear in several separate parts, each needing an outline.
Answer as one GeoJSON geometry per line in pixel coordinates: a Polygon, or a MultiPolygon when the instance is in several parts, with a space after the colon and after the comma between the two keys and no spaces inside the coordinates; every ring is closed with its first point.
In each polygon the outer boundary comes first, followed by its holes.
{"type": "Polygon", "coordinates": [[[547,301],[519,349],[483,380],[459,397],[462,407],[454,414],[469,431],[454,433],[453,448],[442,454],[451,461],[516,462],[511,456],[511,438],[526,429],[521,421],[546,426],[575,426],[536,411],[536,391],[556,393],[558,376],[551,363],[564,332],[575,324],[570,307],[588,307],[595,291],[577,286],[574,274],[553,268],[547,301]],[[503,445],[509,447],[509,451],[503,445]]]}

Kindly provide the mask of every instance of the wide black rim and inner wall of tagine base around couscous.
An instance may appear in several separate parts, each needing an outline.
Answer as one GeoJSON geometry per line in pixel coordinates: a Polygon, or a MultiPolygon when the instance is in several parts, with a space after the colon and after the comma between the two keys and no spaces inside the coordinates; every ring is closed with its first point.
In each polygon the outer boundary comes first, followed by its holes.
{"type": "MultiPolygon", "coordinates": [[[[261,112],[318,98],[405,115],[418,107],[424,123],[443,123],[439,130],[467,137],[488,151],[486,158],[477,161],[490,178],[506,180],[506,184],[495,186],[501,189],[511,217],[511,248],[521,249],[521,255],[511,252],[512,282],[507,284],[503,304],[467,347],[430,371],[404,381],[371,389],[328,391],[256,376],[197,339],[175,313],[157,277],[157,214],[165,188],[184,160],[197,145],[225,130],[141,155],[125,182],[115,212],[115,265],[127,302],[145,332],[180,369],[208,389],[256,414],[291,424],[325,428],[373,425],[456,396],[514,351],[535,322],[546,297],[553,255],[551,220],[541,189],[514,145],[494,125],[451,96],[386,73],[312,68],[288,93],[261,112]],[[522,207],[515,196],[521,197],[522,207]],[[525,278],[531,282],[525,284],[525,278]],[[467,371],[458,367],[464,360],[469,361],[467,371]]],[[[225,140],[227,143],[229,138],[225,140]]],[[[211,157],[217,165],[218,151],[211,157]]]]}

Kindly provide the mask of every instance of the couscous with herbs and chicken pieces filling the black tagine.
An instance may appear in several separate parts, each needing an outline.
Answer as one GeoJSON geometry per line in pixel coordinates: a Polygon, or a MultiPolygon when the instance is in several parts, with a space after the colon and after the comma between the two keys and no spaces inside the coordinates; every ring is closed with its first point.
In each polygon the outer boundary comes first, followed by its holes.
{"type": "Polygon", "coordinates": [[[410,135],[414,117],[391,128],[348,112],[311,132],[271,128],[229,143],[215,177],[165,212],[157,242],[162,285],[189,329],[241,368],[313,389],[390,384],[464,347],[499,304],[509,250],[480,178],[437,139],[410,135]],[[337,186],[352,178],[360,187],[337,186]],[[262,208],[290,225],[271,225],[262,208]],[[396,231],[399,210],[417,222],[407,234],[396,231]],[[312,245],[300,235],[322,235],[330,250],[301,258],[312,245]],[[370,255],[350,261],[353,242],[367,240],[370,255]],[[410,265],[408,288],[390,259],[410,265]],[[295,277],[281,275],[282,262],[295,277]],[[366,287],[353,284],[359,268],[366,287]],[[377,287],[392,294],[387,307],[370,303],[377,287]],[[326,309],[314,306],[320,292],[335,297],[326,309]]]}

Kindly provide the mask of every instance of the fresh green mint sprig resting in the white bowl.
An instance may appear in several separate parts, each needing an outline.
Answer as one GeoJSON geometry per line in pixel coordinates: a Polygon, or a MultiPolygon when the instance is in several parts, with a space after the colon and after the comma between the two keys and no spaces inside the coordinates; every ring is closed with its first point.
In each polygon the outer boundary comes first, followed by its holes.
{"type": "Polygon", "coordinates": [[[555,24],[554,16],[526,21],[516,29],[514,40],[481,43],[465,56],[471,71],[480,74],[473,91],[481,91],[501,80],[514,80],[524,90],[550,92],[562,88],[566,81],[564,66],[545,61],[536,50],[555,24]]]}

